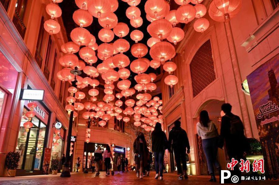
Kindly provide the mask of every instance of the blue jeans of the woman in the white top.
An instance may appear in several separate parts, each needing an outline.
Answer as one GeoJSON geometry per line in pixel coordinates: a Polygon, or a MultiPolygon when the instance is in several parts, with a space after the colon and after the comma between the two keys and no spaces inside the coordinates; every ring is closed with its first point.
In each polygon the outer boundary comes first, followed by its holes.
{"type": "Polygon", "coordinates": [[[217,137],[202,140],[202,148],[206,156],[208,171],[210,174],[214,174],[213,164],[217,169],[220,168],[220,164],[217,160],[217,137]]]}

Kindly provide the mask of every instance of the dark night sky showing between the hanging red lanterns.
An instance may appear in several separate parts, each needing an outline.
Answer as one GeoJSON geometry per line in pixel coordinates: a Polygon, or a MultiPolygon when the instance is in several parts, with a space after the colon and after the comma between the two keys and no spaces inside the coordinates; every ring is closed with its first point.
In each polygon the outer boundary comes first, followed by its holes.
{"type": "MultiPolygon", "coordinates": [[[[138,30],[142,31],[144,33],[144,38],[139,41],[139,43],[144,43],[146,45],[147,43],[147,40],[151,37],[149,35],[149,33],[147,32],[147,26],[150,24],[150,22],[146,19],[146,13],[144,11],[144,4],[145,4],[146,1],[142,0],[140,2],[140,4],[137,6],[140,10],[141,10],[141,17],[143,19],[143,25],[139,28],[137,28],[138,30]]],[[[129,27],[129,34],[125,37],[123,37],[123,39],[126,39],[129,43],[130,43],[130,49],[131,49],[131,46],[133,44],[135,44],[135,41],[133,41],[131,38],[130,38],[130,33],[131,31],[135,30],[136,28],[132,27],[131,24],[130,24],[130,19],[128,19],[126,17],[126,9],[129,7],[129,5],[126,3],[126,2],[123,2],[121,0],[118,0],[118,9],[114,12],[116,15],[117,15],[117,18],[118,18],[118,22],[123,22],[123,23],[126,23],[129,27]]],[[[77,28],[78,25],[75,24],[75,22],[73,21],[73,12],[78,10],[78,6],[76,5],[75,1],[74,0],[68,0],[68,1],[63,1],[61,3],[59,3],[59,6],[61,7],[62,9],[62,19],[63,19],[63,22],[64,22],[64,26],[66,28],[66,32],[67,32],[67,37],[69,39],[69,41],[71,41],[71,38],[70,38],[70,33],[71,31],[74,29],[74,28],[77,28]]],[[[93,23],[88,26],[88,27],[85,27],[92,35],[95,36],[96,38],[96,43],[98,45],[102,44],[103,42],[100,41],[100,39],[98,38],[98,32],[103,28],[99,25],[98,23],[98,19],[93,17],[93,23]]],[[[116,41],[117,39],[119,39],[119,37],[117,36],[114,36],[114,39],[112,42],[116,41]]],[[[127,52],[125,52],[124,54],[126,54],[129,58],[130,58],[130,61],[132,62],[133,60],[137,59],[135,58],[134,56],[132,56],[131,54],[131,50],[128,50],[127,52]]],[[[152,58],[150,57],[149,55],[149,47],[148,47],[148,54],[144,57],[144,58],[148,58],[149,60],[152,60],[152,58]]],[[[98,62],[95,63],[95,67],[101,63],[102,61],[100,59],[98,59],[98,62]]],[[[117,68],[115,68],[115,70],[118,70],[117,68]]],[[[154,70],[153,68],[149,67],[148,70],[145,72],[145,73],[155,73],[155,74],[160,74],[160,69],[157,69],[157,70],[154,70]]],[[[131,76],[129,78],[129,80],[131,80],[132,84],[131,84],[131,87],[134,86],[136,84],[135,80],[133,79],[134,76],[136,74],[131,72],[131,76]]]]}

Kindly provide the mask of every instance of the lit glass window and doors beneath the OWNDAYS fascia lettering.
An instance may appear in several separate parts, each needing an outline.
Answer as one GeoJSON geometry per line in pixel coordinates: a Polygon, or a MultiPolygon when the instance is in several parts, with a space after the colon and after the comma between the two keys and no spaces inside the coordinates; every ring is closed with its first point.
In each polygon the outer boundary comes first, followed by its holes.
{"type": "Polygon", "coordinates": [[[47,126],[37,117],[32,118],[33,127],[27,131],[23,124],[28,121],[25,113],[29,111],[24,107],[16,151],[20,153],[19,169],[41,170],[43,162],[43,149],[47,126]]]}

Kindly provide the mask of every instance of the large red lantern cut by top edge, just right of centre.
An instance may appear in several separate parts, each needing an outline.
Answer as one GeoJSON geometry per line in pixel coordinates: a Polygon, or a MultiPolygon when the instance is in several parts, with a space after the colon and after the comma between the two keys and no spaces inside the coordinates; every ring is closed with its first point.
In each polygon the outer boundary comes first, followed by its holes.
{"type": "Polygon", "coordinates": [[[148,0],[145,2],[144,10],[150,17],[161,19],[170,11],[170,4],[165,0],[148,0]]]}

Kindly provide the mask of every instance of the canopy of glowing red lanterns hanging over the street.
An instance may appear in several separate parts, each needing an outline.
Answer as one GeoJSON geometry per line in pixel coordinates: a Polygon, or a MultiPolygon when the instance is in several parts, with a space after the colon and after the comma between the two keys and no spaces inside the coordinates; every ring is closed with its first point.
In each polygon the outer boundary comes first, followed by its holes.
{"type": "MultiPolygon", "coordinates": [[[[51,15],[48,22],[53,22],[54,18],[61,16],[61,9],[55,2],[47,5],[47,12],[51,15]]],[[[178,78],[172,75],[177,68],[171,59],[175,57],[175,47],[178,42],[184,38],[184,31],[176,27],[179,23],[188,24],[195,20],[193,27],[197,32],[204,32],[209,27],[209,21],[203,16],[206,14],[206,7],[200,4],[203,0],[175,0],[180,5],[177,10],[170,10],[170,5],[166,0],[147,0],[144,11],[146,18],[151,23],[147,31],[151,38],[148,39],[147,45],[150,48],[149,54],[153,60],[149,61],[144,56],[148,53],[148,47],[142,41],[144,35],[139,28],[143,24],[141,11],[137,7],[140,0],[122,0],[130,6],[126,10],[126,16],[130,19],[130,24],[135,28],[130,32],[127,24],[118,22],[117,16],[113,13],[118,8],[117,0],[75,0],[76,5],[80,8],[73,13],[73,20],[79,26],[74,28],[70,34],[71,40],[62,45],[61,50],[64,56],[59,59],[59,63],[64,67],[58,71],[57,77],[62,81],[73,81],[75,76],[71,70],[75,67],[82,70],[87,76],[82,78],[76,76],[77,88],[70,87],[68,91],[70,96],[67,97],[65,109],[69,112],[74,111],[74,118],[78,116],[76,111],[86,109],[82,114],[84,119],[101,118],[100,126],[106,125],[111,117],[116,116],[117,120],[129,122],[131,115],[134,114],[134,125],[141,126],[146,131],[152,131],[155,123],[162,123],[162,115],[158,116],[157,110],[161,113],[162,100],[147,93],[157,88],[153,80],[156,74],[145,74],[148,67],[157,69],[162,65],[163,69],[169,74],[165,77],[164,82],[170,87],[178,83],[178,78]],[[191,2],[191,4],[189,4],[191,2]],[[194,4],[194,6],[192,5],[194,4]],[[93,17],[98,18],[98,23],[103,28],[99,31],[98,37],[103,42],[96,44],[96,38],[86,29],[93,22],[93,17]],[[129,35],[135,44],[131,45],[124,39],[129,35]],[[113,41],[114,37],[118,37],[113,41]],[[130,61],[125,52],[131,50],[131,54],[137,59],[130,61]],[[82,60],[79,60],[76,54],[82,60]],[[98,58],[103,62],[93,67],[92,64],[97,62],[98,58]],[[86,65],[87,64],[87,65],[86,65]],[[118,68],[118,71],[115,70],[118,68]],[[136,73],[135,87],[131,87],[131,81],[128,80],[131,71],[136,73]],[[101,75],[105,81],[103,101],[97,101],[99,90],[96,87],[100,84],[96,79],[101,75]],[[117,88],[121,90],[113,93],[114,82],[117,82],[117,88]],[[90,101],[81,103],[86,97],[84,92],[78,91],[85,87],[90,87],[88,94],[91,96],[90,101]],[[135,91],[144,92],[136,95],[138,101],[129,99],[135,91]],[[73,94],[75,93],[75,96],[73,94]],[[125,97],[123,102],[120,98],[125,97]],[[115,100],[117,99],[117,100],[115,100]],[[126,108],[122,110],[121,106],[125,104],[126,108]],[[122,114],[122,115],[120,115],[122,114]],[[143,117],[141,117],[143,115],[143,117]],[[144,124],[141,124],[144,123],[144,124]]],[[[228,20],[234,16],[241,5],[241,0],[213,0],[210,4],[209,15],[216,21],[228,20]],[[224,2],[223,4],[221,2],[224,2]]],[[[46,21],[47,22],[47,21],[46,21]]],[[[56,21],[55,21],[56,22],[56,21]]],[[[54,23],[54,22],[53,22],[54,23]]],[[[46,23],[45,23],[46,24],[46,23]]],[[[46,30],[51,33],[57,33],[56,29],[51,30],[48,26],[46,30]]],[[[59,26],[60,29],[60,26],[59,26]]],[[[58,31],[59,32],[59,31],[58,31]]],[[[90,142],[90,131],[86,131],[86,142],[90,142]]]]}

